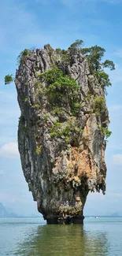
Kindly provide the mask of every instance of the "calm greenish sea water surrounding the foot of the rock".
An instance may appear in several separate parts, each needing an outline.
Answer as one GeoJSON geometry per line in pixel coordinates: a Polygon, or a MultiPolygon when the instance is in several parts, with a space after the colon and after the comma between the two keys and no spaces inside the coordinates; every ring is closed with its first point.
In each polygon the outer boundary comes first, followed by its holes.
{"type": "Polygon", "coordinates": [[[122,217],[81,225],[46,225],[42,218],[0,219],[0,256],[121,256],[122,217]]]}

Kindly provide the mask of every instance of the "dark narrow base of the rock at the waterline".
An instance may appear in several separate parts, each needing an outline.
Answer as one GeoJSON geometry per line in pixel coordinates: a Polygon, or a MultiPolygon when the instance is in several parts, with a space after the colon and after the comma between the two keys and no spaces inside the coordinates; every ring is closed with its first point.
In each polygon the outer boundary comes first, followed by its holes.
{"type": "Polygon", "coordinates": [[[47,224],[83,224],[83,215],[75,217],[50,217],[46,218],[47,224]]]}

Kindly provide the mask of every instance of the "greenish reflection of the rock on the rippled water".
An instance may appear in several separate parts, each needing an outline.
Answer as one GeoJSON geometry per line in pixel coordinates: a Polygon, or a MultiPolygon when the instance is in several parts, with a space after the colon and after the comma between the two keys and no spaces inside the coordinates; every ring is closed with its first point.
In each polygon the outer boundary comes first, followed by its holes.
{"type": "Polygon", "coordinates": [[[105,232],[85,231],[81,225],[43,225],[20,244],[16,254],[24,256],[107,256],[105,232]]]}

